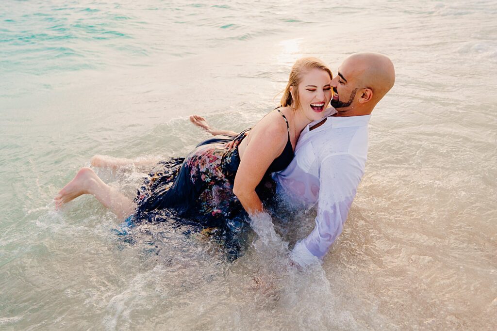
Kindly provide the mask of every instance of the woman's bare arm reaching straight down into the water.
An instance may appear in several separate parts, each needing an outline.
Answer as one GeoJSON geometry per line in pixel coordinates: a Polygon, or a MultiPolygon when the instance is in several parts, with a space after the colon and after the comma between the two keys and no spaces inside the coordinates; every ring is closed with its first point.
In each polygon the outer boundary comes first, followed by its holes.
{"type": "Polygon", "coordinates": [[[271,162],[281,154],[288,139],[286,125],[279,115],[266,119],[257,123],[250,132],[250,141],[241,157],[233,186],[233,193],[250,216],[263,209],[255,188],[271,162]]]}

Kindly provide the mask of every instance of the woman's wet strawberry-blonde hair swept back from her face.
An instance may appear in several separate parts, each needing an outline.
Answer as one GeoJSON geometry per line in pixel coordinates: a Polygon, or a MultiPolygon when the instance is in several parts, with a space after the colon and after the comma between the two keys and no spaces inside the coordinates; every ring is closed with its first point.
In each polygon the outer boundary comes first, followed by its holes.
{"type": "Polygon", "coordinates": [[[317,58],[300,58],[292,66],[290,71],[290,76],[288,77],[288,84],[286,84],[285,90],[283,91],[283,96],[281,97],[281,106],[290,107],[293,110],[297,109],[299,105],[299,89],[298,86],[302,80],[302,74],[310,69],[320,69],[328,72],[330,79],[333,79],[333,74],[330,68],[317,58]],[[290,86],[293,86],[293,92],[295,99],[290,93],[290,86]]]}

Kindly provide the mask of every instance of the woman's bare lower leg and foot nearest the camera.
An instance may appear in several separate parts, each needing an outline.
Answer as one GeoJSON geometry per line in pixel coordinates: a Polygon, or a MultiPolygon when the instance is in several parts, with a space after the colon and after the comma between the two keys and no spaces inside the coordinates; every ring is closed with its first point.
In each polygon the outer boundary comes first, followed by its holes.
{"type": "Polygon", "coordinates": [[[83,194],[95,196],[98,201],[120,218],[128,217],[136,209],[136,205],[131,199],[102,182],[90,168],[82,168],[76,177],[59,192],[54,199],[56,209],[59,209],[63,203],[83,194]]]}

